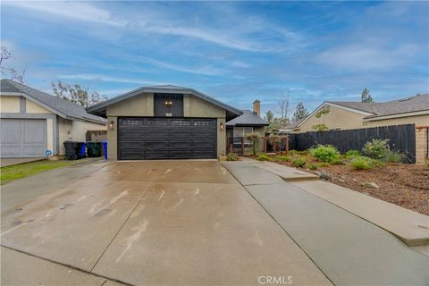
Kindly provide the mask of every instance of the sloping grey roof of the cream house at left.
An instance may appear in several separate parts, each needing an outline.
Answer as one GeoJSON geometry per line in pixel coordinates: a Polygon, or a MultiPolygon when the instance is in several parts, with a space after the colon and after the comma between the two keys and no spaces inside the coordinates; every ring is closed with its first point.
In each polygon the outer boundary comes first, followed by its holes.
{"type": "Polygon", "coordinates": [[[85,108],[80,105],[73,104],[72,102],[60,97],[51,96],[46,92],[40,91],[36,88],[30,88],[13,80],[1,80],[0,92],[2,94],[19,94],[63,118],[80,119],[87,122],[96,122],[101,124],[105,124],[106,122],[105,118],[88,114],[85,108]]]}

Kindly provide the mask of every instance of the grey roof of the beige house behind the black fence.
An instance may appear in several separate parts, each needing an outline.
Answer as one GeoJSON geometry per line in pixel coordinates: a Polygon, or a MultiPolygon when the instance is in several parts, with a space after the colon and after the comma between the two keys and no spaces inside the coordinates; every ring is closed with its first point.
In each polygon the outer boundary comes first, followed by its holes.
{"type": "Polygon", "coordinates": [[[317,113],[324,105],[332,105],[357,114],[365,115],[364,120],[380,120],[383,117],[396,116],[403,117],[411,114],[429,114],[429,94],[405,97],[398,100],[391,100],[382,103],[376,102],[356,102],[356,101],[325,101],[319,105],[315,111],[298,122],[294,122],[291,128],[297,129],[306,122],[308,118],[317,113]]]}

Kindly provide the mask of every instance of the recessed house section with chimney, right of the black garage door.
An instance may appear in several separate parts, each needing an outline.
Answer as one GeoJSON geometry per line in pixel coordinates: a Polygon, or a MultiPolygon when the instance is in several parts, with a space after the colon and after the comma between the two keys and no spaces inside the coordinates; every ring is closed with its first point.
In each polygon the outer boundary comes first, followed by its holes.
{"type": "MultiPolygon", "coordinates": [[[[246,139],[246,135],[251,132],[257,132],[261,137],[265,136],[266,126],[270,125],[269,122],[261,118],[261,102],[255,100],[253,102],[253,111],[242,110],[243,114],[239,117],[226,122],[226,136],[228,141],[231,138],[244,138],[246,145],[251,142],[246,139]]],[[[264,149],[264,144],[259,144],[259,149],[264,149]]]]}

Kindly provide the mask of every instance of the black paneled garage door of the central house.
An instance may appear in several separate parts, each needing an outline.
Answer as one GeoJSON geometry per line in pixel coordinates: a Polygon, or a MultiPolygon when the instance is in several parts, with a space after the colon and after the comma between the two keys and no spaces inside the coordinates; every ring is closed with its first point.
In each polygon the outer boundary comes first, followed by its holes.
{"type": "Polygon", "coordinates": [[[215,119],[119,118],[121,160],[216,157],[215,119]]]}

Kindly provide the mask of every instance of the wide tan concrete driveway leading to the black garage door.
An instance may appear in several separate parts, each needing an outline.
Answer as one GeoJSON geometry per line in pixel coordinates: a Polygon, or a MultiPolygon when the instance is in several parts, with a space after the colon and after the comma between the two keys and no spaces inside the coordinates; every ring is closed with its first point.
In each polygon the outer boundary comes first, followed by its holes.
{"type": "MultiPolygon", "coordinates": [[[[1,239],[5,248],[136,285],[257,285],[269,276],[331,283],[216,161],[105,164],[9,207],[1,239]]],[[[21,272],[2,270],[2,284],[21,272]]]]}

